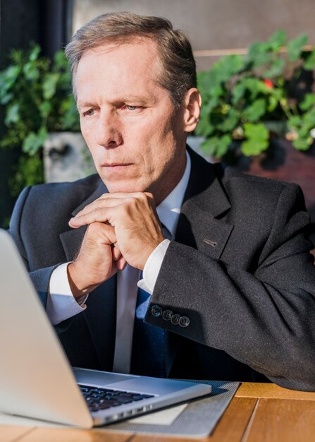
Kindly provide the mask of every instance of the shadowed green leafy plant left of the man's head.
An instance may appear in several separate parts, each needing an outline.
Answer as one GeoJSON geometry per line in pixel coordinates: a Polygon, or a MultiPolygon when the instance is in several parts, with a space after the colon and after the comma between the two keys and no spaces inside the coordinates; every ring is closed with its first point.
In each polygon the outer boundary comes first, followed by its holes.
{"type": "Polygon", "coordinates": [[[71,94],[68,62],[63,51],[54,59],[40,56],[40,48],[13,49],[11,64],[0,72],[0,105],[6,132],[0,148],[21,148],[11,189],[43,181],[42,146],[50,131],[80,130],[71,94]]]}

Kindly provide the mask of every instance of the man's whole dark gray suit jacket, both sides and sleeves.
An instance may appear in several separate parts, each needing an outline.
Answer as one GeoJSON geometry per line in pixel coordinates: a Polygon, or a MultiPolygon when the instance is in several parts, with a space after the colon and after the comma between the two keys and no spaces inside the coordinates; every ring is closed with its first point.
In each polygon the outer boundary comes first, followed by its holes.
{"type": "MultiPolygon", "coordinates": [[[[175,241],[145,318],[167,330],[167,376],[267,377],[315,390],[315,266],[302,192],[295,184],[249,177],[190,155],[175,241]],[[154,305],[187,316],[190,325],[154,316],[154,305]]],[[[21,193],[11,235],[44,305],[51,272],[73,260],[85,232],[70,229],[68,220],[104,192],[94,175],[21,193]]],[[[87,309],[57,331],[71,364],[111,371],[116,277],[89,294],[87,309]]]]}

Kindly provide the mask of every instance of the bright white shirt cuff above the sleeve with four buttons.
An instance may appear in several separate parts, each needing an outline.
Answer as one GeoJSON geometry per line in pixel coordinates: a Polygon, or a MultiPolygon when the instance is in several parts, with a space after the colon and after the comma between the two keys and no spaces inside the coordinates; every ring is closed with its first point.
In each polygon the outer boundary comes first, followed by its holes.
{"type": "Polygon", "coordinates": [[[154,291],[156,280],[170,242],[169,239],[164,239],[160,242],[159,246],[156,246],[149,258],[147,258],[147,262],[144,265],[143,279],[138,282],[138,287],[149,294],[152,294],[154,291]]]}

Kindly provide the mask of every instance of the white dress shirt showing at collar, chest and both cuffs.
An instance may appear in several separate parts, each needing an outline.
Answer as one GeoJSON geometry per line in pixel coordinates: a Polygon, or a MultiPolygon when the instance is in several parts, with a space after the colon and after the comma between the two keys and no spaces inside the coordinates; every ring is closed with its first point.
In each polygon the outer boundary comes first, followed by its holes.
{"type": "MultiPolygon", "coordinates": [[[[156,207],[159,220],[168,229],[172,238],[175,237],[180,208],[190,177],[190,156],[187,151],[186,157],[186,168],[182,179],[161,204],[156,207]]],[[[152,294],[169,243],[169,239],[164,239],[151,253],[144,265],[142,280],[139,280],[140,270],[132,268],[130,265],[117,273],[117,319],[113,371],[118,373],[129,373],[130,371],[137,286],[152,294]]],[[[68,282],[68,264],[58,265],[51,274],[47,315],[54,325],[87,308],[85,301],[88,295],[80,299],[80,304],[73,297],[68,282]]]]}

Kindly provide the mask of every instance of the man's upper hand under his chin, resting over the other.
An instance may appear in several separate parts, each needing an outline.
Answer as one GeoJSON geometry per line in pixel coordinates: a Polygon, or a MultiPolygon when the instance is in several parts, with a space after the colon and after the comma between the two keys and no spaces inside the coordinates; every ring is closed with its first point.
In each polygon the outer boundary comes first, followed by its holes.
{"type": "Polygon", "coordinates": [[[143,270],[149,255],[163,241],[151,193],[105,193],[69,222],[71,227],[107,222],[115,231],[125,261],[143,270]]]}

